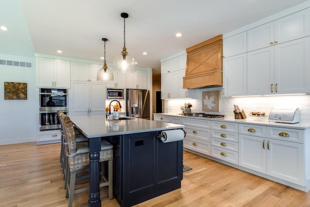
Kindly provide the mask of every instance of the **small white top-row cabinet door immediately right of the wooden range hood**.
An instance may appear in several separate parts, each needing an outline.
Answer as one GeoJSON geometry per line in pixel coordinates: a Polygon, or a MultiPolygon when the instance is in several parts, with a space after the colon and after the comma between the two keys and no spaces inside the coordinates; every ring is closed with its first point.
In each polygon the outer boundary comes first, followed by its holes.
{"type": "Polygon", "coordinates": [[[247,32],[223,39],[223,58],[247,52],[247,32]]]}

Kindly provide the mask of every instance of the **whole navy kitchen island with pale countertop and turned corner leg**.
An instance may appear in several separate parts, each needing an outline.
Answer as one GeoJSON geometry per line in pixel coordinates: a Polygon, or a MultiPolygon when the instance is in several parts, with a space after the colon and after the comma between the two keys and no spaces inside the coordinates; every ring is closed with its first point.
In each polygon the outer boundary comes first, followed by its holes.
{"type": "Polygon", "coordinates": [[[162,130],[183,125],[145,119],[106,120],[105,116],[75,116],[71,119],[89,138],[89,206],[100,206],[100,141],[112,143],[113,195],[121,207],[130,207],[181,187],[183,141],[162,143],[162,130]]]}

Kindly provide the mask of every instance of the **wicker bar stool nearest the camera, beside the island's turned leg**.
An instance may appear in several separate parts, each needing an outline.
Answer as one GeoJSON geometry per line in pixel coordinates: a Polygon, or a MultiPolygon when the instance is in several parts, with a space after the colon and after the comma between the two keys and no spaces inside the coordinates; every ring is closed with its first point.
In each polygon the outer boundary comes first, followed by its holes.
{"type": "MultiPolygon", "coordinates": [[[[62,115],[65,137],[68,141],[67,157],[69,163],[67,192],[66,198],[69,198],[69,207],[73,204],[75,193],[86,191],[89,187],[75,189],[77,171],[89,165],[89,152],[87,143],[77,143],[74,128],[70,118],[62,115]]],[[[100,187],[108,186],[109,199],[113,198],[113,145],[109,142],[101,141],[101,150],[99,152],[99,162],[108,161],[108,178],[104,176],[102,171],[100,187]]]]}

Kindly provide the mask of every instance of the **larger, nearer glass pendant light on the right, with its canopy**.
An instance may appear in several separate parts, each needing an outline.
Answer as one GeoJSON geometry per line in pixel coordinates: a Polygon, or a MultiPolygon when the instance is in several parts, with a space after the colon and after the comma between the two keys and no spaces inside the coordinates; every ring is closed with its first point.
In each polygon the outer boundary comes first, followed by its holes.
{"type": "Polygon", "coordinates": [[[128,14],[122,13],[121,16],[124,18],[124,47],[121,54],[113,60],[113,70],[121,73],[133,73],[136,72],[135,59],[128,54],[125,46],[125,19],[128,14]]]}

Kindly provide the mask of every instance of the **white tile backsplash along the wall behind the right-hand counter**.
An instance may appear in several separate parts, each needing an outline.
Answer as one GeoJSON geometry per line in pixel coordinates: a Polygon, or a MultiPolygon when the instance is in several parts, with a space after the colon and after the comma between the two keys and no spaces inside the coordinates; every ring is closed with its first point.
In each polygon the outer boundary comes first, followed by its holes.
{"type": "MultiPolygon", "coordinates": [[[[233,104],[237,104],[247,114],[247,119],[257,120],[258,117],[249,116],[252,109],[262,109],[270,113],[274,107],[298,107],[300,109],[300,123],[310,123],[310,95],[292,96],[254,96],[254,97],[223,97],[220,96],[220,112],[202,111],[202,92],[216,91],[222,88],[196,89],[196,99],[174,99],[165,100],[165,113],[181,113],[180,106],[191,103],[192,112],[204,112],[210,114],[224,114],[225,117],[234,117],[233,104]]],[[[268,121],[268,117],[259,118],[268,121]]]]}

